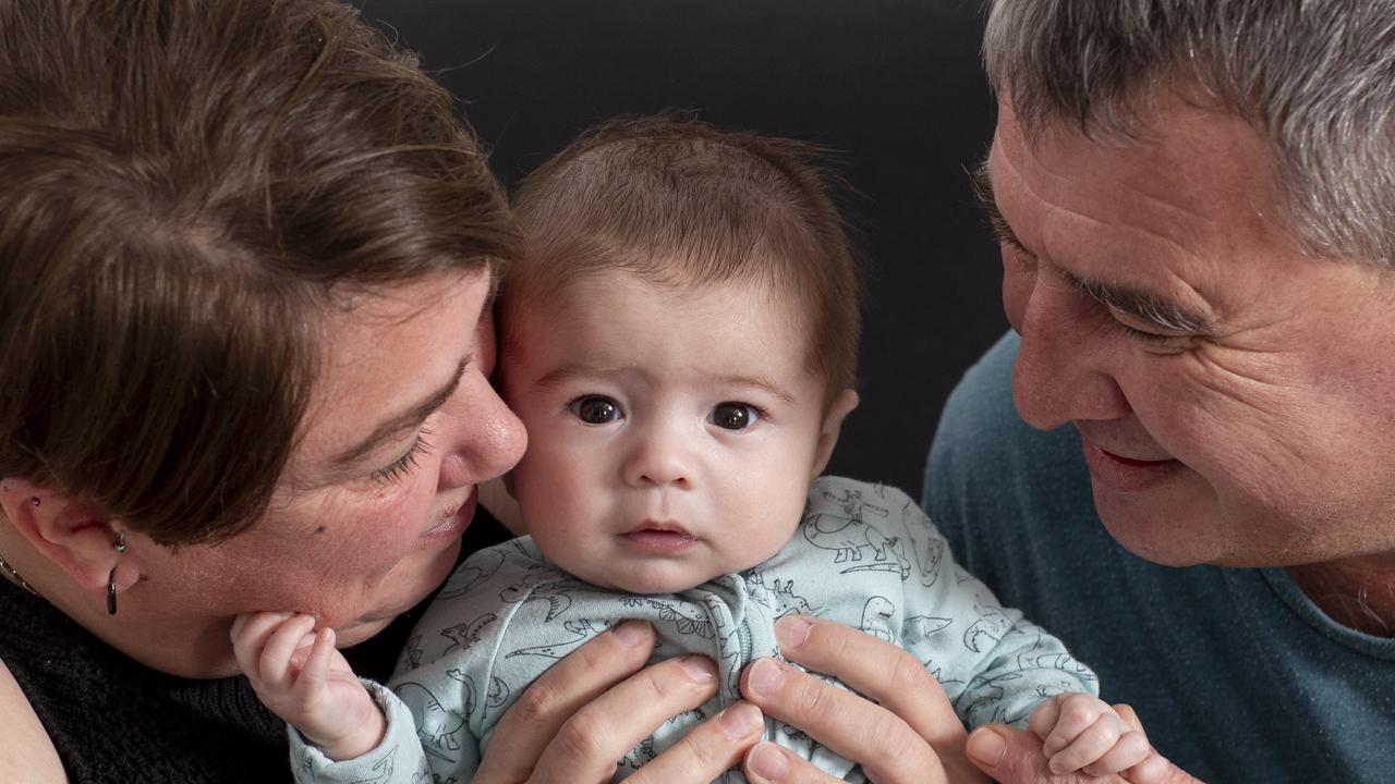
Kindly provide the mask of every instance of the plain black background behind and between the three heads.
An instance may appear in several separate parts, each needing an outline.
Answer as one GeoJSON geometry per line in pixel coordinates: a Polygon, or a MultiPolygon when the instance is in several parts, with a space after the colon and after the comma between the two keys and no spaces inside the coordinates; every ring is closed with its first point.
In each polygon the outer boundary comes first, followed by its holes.
{"type": "Polygon", "coordinates": [[[972,0],[357,0],[509,187],[605,117],[693,109],[843,151],[868,268],[862,406],[830,473],[919,494],[944,398],[1007,326],[965,170],[993,103],[972,0]]]}

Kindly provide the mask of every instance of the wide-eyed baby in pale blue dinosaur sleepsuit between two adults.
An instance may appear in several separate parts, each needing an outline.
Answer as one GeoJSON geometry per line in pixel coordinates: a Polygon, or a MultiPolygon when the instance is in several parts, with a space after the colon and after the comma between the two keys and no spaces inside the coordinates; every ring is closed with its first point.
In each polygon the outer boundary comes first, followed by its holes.
{"type": "MultiPolygon", "coordinates": [[[[741,670],[780,656],[774,622],[792,612],[912,651],[967,725],[1036,709],[1055,770],[1151,753],[1116,742],[1127,727],[1094,674],[964,573],[911,498],[820,477],[857,406],[858,279],[810,160],[792,141],[622,120],[525,183],[525,258],[498,314],[499,382],[529,432],[509,476],[529,536],[456,571],[391,691],[353,679],[310,617],[239,622],[239,660],[300,731],[297,777],[467,781],[534,678],[642,618],[656,658],[709,656],[721,689],[619,760],[621,778],[739,699],[741,670]]],[[[766,738],[865,780],[794,727],[767,721],[766,738]]]]}

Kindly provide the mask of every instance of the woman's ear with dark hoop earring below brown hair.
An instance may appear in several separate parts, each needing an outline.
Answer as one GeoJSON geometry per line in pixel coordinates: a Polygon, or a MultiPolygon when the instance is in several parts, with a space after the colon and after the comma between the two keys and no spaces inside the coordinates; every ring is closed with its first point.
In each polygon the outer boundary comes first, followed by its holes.
{"type": "Polygon", "coordinates": [[[120,552],[114,547],[116,520],[100,506],[28,480],[7,478],[0,481],[0,508],[11,527],[73,582],[85,590],[106,591],[120,552]]]}

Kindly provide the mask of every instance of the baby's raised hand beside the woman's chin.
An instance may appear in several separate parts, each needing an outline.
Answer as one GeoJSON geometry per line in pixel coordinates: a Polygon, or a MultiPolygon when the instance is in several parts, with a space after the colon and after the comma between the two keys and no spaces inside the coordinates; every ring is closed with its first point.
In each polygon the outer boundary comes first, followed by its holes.
{"type": "Polygon", "coordinates": [[[257,696],[333,760],[372,751],[388,720],[311,615],[257,612],[233,621],[233,653],[257,696]]]}

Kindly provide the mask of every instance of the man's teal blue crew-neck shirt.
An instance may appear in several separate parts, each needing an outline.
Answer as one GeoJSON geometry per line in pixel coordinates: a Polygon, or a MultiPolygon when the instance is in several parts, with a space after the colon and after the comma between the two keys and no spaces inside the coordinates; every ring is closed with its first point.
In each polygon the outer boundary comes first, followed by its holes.
{"type": "Polygon", "coordinates": [[[1169,568],[1120,547],[1076,428],[1018,417],[1017,347],[1010,333],[968,371],[930,449],[926,509],[965,568],[1088,661],[1102,698],[1131,704],[1193,776],[1391,781],[1395,639],[1334,622],[1285,569],[1169,568]]]}

